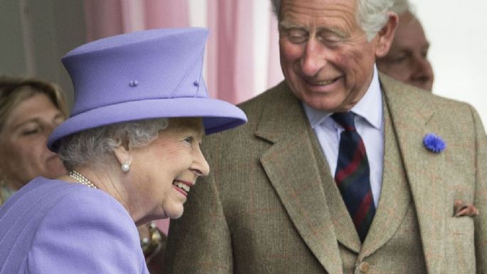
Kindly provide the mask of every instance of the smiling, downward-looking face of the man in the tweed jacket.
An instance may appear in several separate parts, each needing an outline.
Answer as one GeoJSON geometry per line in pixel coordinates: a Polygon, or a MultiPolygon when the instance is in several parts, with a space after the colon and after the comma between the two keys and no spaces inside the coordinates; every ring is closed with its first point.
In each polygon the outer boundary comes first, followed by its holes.
{"type": "Polygon", "coordinates": [[[355,0],[282,1],[282,71],[293,93],[316,110],[350,110],[372,80],[382,42],[377,35],[367,41],[355,9],[355,0]]]}

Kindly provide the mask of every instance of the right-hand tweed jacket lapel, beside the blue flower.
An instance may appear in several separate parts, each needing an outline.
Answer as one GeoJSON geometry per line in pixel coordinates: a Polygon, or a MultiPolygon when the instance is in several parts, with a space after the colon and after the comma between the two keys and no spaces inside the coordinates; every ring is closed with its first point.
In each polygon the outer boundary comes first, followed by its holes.
{"type": "Polygon", "coordinates": [[[445,193],[440,184],[444,179],[439,163],[444,162],[441,159],[444,153],[432,154],[422,144],[423,137],[430,133],[427,124],[433,112],[427,102],[407,96],[406,93],[415,90],[399,86],[383,75],[381,83],[411,188],[428,273],[439,273],[445,234],[445,218],[442,216],[445,193]],[[437,179],[430,181],[427,178],[437,179]]]}

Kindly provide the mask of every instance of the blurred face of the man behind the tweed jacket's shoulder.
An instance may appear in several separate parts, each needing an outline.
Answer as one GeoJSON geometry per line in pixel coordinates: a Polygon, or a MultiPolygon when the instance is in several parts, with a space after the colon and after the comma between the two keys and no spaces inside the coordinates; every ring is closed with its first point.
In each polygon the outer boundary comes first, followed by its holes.
{"type": "Polygon", "coordinates": [[[399,17],[399,26],[389,53],[378,59],[378,69],[392,78],[432,91],[433,69],[427,59],[429,43],[421,23],[409,11],[399,17]]]}

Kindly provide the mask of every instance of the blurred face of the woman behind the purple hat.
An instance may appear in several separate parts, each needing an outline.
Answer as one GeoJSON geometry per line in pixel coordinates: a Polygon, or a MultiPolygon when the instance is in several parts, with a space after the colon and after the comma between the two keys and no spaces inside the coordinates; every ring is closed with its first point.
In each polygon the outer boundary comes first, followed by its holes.
{"type": "Polygon", "coordinates": [[[36,176],[55,178],[66,173],[47,139],[64,117],[46,95],[23,100],[6,119],[0,132],[1,176],[16,189],[36,176]]]}

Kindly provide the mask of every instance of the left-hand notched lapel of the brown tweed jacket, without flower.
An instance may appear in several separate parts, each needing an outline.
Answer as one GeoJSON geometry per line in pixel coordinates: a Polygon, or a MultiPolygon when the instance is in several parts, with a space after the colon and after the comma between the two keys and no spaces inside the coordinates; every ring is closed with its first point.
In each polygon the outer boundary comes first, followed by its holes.
{"type": "Polygon", "coordinates": [[[311,130],[301,104],[284,83],[277,102],[267,107],[256,135],[273,146],[261,162],[296,230],[328,273],[343,273],[328,211],[311,130]]]}

